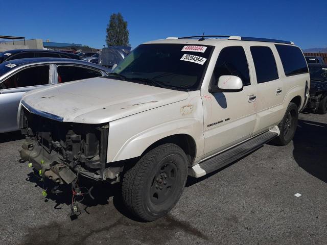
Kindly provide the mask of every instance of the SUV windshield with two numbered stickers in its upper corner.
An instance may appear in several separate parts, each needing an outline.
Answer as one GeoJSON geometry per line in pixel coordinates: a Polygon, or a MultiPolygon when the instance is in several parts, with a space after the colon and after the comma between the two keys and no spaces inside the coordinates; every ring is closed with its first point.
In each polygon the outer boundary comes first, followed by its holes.
{"type": "Polygon", "coordinates": [[[130,82],[177,90],[198,90],[213,46],[142,44],[113,70],[130,82]],[[150,81],[152,80],[152,81],[150,81]]]}

